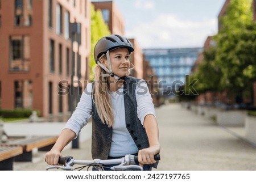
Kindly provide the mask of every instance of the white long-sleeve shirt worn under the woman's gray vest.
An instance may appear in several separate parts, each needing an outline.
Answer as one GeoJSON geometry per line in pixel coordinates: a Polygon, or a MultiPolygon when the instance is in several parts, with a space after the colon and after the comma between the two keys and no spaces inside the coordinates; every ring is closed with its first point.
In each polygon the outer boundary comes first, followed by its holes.
{"type": "MultiPolygon", "coordinates": [[[[151,114],[155,116],[155,108],[146,82],[141,80],[136,87],[137,114],[143,125],[144,117],[151,114]]],[[[83,92],[79,103],[64,128],[73,130],[76,136],[90,117],[92,117],[92,83],[89,83],[83,92]]],[[[112,144],[109,156],[123,156],[138,152],[133,138],[131,138],[125,124],[125,104],[123,99],[123,86],[115,92],[110,92],[114,114],[112,144]]]]}

